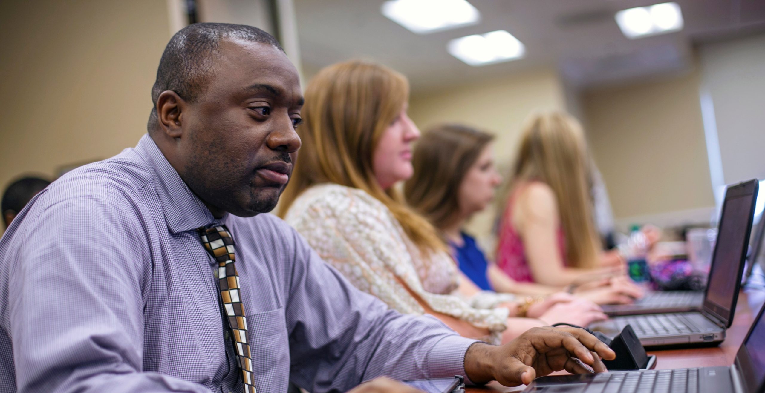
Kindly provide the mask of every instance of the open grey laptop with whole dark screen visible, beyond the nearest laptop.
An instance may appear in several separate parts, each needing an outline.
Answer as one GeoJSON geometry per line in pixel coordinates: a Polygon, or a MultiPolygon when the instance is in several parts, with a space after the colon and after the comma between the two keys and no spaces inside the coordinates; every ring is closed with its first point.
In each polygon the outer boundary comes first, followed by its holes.
{"type": "Polygon", "coordinates": [[[758,186],[757,180],[750,180],[725,192],[702,310],[614,317],[588,327],[616,336],[630,324],[643,346],[721,343],[733,322],[758,186]]]}

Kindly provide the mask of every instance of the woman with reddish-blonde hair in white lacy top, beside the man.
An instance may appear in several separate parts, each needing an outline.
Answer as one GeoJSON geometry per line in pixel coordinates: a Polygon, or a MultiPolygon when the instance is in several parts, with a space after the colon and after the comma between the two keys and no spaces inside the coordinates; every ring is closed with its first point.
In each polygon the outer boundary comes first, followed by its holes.
{"type": "Polygon", "coordinates": [[[393,187],[412,176],[411,143],[419,137],[408,99],[405,77],[377,64],[350,61],[317,73],[306,87],[303,148],[279,214],[362,291],[402,313],[429,313],[463,336],[506,342],[561,321],[571,307],[579,309],[574,323],[604,318],[589,303],[494,295],[479,309],[456,296],[474,288],[459,280],[438,232],[393,187]],[[517,314],[544,322],[508,319],[517,314]]]}

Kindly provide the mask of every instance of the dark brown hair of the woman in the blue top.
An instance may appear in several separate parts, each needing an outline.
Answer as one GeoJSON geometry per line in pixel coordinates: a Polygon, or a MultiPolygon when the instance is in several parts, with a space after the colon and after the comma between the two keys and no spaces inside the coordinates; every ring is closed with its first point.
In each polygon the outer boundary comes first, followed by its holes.
{"type": "Polygon", "coordinates": [[[415,174],[404,184],[409,205],[436,228],[451,225],[460,213],[462,180],[493,138],[456,124],[423,132],[412,155],[415,174]]]}

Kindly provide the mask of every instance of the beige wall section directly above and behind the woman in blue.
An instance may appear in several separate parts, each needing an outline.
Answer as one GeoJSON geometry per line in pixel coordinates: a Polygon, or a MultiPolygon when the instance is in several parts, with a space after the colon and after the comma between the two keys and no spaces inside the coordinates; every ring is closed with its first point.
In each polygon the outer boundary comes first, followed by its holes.
{"type": "MultiPolygon", "coordinates": [[[[565,92],[555,70],[539,70],[425,94],[412,94],[409,115],[423,130],[441,122],[471,125],[496,135],[494,151],[500,168],[509,167],[522,123],[539,110],[565,109],[565,92]]],[[[487,250],[493,249],[495,210],[475,216],[468,230],[487,250]]]]}

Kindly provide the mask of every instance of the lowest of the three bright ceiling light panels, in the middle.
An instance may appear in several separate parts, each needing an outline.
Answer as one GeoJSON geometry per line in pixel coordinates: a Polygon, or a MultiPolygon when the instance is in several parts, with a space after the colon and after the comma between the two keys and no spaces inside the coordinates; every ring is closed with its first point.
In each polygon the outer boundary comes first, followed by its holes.
{"type": "Polygon", "coordinates": [[[447,50],[474,67],[520,59],[526,53],[523,43],[504,30],[455,38],[447,50]]]}

